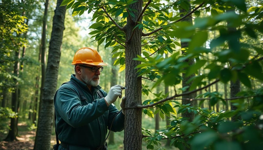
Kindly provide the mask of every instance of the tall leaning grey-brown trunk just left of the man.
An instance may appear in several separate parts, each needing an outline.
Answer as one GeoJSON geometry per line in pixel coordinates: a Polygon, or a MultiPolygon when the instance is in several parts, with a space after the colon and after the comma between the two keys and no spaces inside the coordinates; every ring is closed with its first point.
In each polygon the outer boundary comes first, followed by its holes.
{"type": "Polygon", "coordinates": [[[49,43],[48,63],[43,88],[41,110],[38,118],[37,134],[34,149],[49,150],[53,125],[54,104],[53,99],[57,88],[60,49],[63,38],[66,6],[59,7],[62,0],[57,1],[53,17],[53,27],[49,43]]]}

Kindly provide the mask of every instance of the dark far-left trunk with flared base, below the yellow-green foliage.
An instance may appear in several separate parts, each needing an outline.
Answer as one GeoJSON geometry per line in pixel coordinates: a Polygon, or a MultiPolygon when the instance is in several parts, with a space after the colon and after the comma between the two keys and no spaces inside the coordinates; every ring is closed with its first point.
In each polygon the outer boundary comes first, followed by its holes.
{"type": "MultiPolygon", "coordinates": [[[[20,49],[18,48],[18,51],[15,52],[15,63],[14,63],[14,75],[19,77],[19,66],[20,66],[20,49]]],[[[12,111],[17,112],[17,103],[18,103],[18,81],[16,78],[13,79],[15,85],[14,85],[14,92],[12,93],[12,111]]],[[[17,117],[11,118],[10,123],[10,130],[8,132],[7,137],[4,139],[4,141],[14,141],[17,140],[17,117]]]]}

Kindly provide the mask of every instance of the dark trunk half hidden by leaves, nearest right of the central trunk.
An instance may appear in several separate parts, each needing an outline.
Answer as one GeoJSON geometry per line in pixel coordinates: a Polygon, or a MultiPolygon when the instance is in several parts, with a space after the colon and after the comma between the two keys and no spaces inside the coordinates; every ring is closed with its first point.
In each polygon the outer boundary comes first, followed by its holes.
{"type": "MultiPolygon", "coordinates": [[[[190,4],[190,0],[187,0],[187,1],[188,1],[189,4],[190,4]]],[[[180,11],[180,13],[186,12],[186,10],[184,10],[184,9],[180,9],[179,11],[180,11]]],[[[187,10],[187,11],[190,12],[191,9],[190,9],[190,10],[187,10]]],[[[180,15],[180,17],[183,17],[183,16],[184,16],[183,14],[180,15]]],[[[190,18],[189,16],[186,17],[186,18],[184,18],[182,21],[187,21],[187,22],[189,22],[189,23],[191,23],[191,24],[193,23],[192,18],[190,18]]],[[[181,48],[186,48],[186,47],[188,47],[188,44],[189,44],[189,42],[181,42],[181,48]]],[[[182,53],[184,53],[184,51],[182,51],[182,53]]],[[[189,65],[194,64],[194,60],[193,60],[193,59],[187,59],[187,60],[185,60],[185,61],[186,61],[186,62],[189,62],[189,65]]],[[[190,75],[189,77],[186,77],[185,74],[183,74],[182,87],[191,85],[191,83],[186,84],[186,82],[187,82],[191,77],[193,77],[193,76],[195,76],[195,74],[190,75]]],[[[188,89],[189,89],[189,88],[188,88],[188,89]]],[[[184,92],[187,92],[188,89],[187,89],[186,91],[184,91],[184,92]]],[[[186,99],[186,98],[190,98],[190,99],[191,99],[191,98],[194,98],[194,97],[196,97],[196,93],[182,96],[183,99],[186,99]]],[[[195,105],[194,102],[195,102],[195,101],[182,100],[182,104],[189,104],[189,103],[190,103],[190,104],[191,104],[190,106],[194,106],[194,105],[195,105]]],[[[183,116],[183,117],[188,117],[188,118],[189,118],[189,121],[193,121],[193,119],[194,119],[194,113],[189,113],[188,111],[182,113],[182,116],[183,116]]]]}

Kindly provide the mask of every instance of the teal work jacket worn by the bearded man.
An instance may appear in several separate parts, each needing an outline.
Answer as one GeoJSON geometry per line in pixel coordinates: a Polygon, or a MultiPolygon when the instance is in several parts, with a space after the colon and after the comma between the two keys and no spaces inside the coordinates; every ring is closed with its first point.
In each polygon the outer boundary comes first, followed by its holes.
{"type": "MultiPolygon", "coordinates": [[[[90,91],[86,84],[71,75],[71,81],[77,83],[87,100],[80,100],[78,89],[71,84],[63,84],[54,97],[56,130],[59,141],[69,145],[96,148],[103,144],[107,128],[112,122],[111,131],[124,129],[124,115],[115,105],[107,106],[104,98],[100,99],[99,90],[105,97],[107,93],[98,85],[90,91]]],[[[59,146],[59,149],[63,149],[59,146]]]]}

